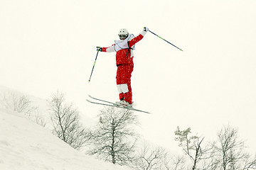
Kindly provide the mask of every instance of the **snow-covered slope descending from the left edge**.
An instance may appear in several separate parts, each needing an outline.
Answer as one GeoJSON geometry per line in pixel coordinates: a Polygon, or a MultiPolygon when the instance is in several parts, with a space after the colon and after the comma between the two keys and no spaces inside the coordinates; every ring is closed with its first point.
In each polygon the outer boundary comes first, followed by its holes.
{"type": "Polygon", "coordinates": [[[1,170],[130,170],[82,154],[23,115],[0,108],[1,170]]]}

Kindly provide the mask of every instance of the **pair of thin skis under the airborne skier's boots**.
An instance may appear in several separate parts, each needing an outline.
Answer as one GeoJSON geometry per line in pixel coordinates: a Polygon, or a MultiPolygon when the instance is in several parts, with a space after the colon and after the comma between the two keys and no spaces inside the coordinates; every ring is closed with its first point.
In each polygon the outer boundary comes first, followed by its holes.
{"type": "Polygon", "coordinates": [[[132,108],[132,107],[129,107],[129,106],[123,106],[123,105],[119,105],[117,103],[112,103],[110,101],[105,101],[105,100],[102,100],[100,98],[95,98],[95,97],[92,97],[90,95],[88,95],[90,98],[94,99],[95,101],[90,101],[90,100],[87,100],[87,102],[89,103],[93,103],[93,104],[98,104],[98,105],[103,105],[103,106],[112,106],[112,107],[116,107],[116,108],[124,108],[124,109],[128,109],[130,111],[138,111],[138,112],[143,112],[143,113],[149,113],[147,111],[142,111],[142,110],[139,110],[139,109],[136,109],[136,108],[132,108]],[[96,101],[101,101],[102,103],[100,102],[96,102],[96,101]]]}

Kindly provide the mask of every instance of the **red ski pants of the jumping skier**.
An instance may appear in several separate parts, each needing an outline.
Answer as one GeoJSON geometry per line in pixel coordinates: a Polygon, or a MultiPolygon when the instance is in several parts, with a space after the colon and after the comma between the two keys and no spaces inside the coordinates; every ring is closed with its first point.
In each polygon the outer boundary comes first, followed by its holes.
{"type": "Polygon", "coordinates": [[[120,84],[127,84],[128,92],[119,93],[120,101],[124,100],[132,104],[132,77],[133,66],[130,64],[121,64],[117,67],[117,86],[120,84]]]}

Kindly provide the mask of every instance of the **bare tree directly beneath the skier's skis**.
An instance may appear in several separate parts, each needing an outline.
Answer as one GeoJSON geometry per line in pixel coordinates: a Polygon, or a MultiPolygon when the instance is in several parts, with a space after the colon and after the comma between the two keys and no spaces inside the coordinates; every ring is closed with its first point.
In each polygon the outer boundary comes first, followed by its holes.
{"type": "Polygon", "coordinates": [[[127,165],[133,159],[137,134],[137,116],[129,110],[108,107],[103,109],[96,130],[91,132],[92,149],[100,159],[113,164],[127,165]]]}

